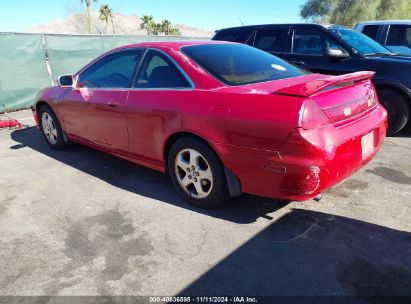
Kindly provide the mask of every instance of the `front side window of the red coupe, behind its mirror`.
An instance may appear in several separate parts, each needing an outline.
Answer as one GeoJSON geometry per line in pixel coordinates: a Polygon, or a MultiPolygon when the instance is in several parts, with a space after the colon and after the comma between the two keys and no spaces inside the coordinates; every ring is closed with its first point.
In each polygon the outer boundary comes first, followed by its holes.
{"type": "Polygon", "coordinates": [[[88,88],[128,88],[142,54],[142,49],[110,54],[83,71],[79,85],[88,88]]]}

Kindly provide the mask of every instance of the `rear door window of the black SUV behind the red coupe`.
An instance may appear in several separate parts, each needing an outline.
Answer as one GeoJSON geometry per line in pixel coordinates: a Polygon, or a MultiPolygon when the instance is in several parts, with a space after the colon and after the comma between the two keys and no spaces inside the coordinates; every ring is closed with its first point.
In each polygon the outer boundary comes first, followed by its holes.
{"type": "Polygon", "coordinates": [[[291,45],[288,41],[288,32],[289,28],[259,30],[254,47],[271,53],[289,53],[291,45]]]}

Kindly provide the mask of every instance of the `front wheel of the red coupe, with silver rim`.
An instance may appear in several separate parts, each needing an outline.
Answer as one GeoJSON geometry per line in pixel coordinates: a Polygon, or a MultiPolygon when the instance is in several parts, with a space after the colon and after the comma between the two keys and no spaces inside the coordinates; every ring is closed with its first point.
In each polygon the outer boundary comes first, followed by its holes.
{"type": "Polygon", "coordinates": [[[64,131],[49,105],[42,105],[40,107],[39,121],[41,132],[50,147],[56,150],[62,150],[67,147],[67,143],[64,140],[64,131]]]}

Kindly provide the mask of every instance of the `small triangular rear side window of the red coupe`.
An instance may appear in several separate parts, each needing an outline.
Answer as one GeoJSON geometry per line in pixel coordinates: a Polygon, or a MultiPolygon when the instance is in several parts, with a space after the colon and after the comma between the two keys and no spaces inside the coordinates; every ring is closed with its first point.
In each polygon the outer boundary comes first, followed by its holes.
{"type": "Polygon", "coordinates": [[[190,88],[191,85],[167,56],[150,50],[141,65],[135,87],[143,89],[168,89],[190,88]]]}

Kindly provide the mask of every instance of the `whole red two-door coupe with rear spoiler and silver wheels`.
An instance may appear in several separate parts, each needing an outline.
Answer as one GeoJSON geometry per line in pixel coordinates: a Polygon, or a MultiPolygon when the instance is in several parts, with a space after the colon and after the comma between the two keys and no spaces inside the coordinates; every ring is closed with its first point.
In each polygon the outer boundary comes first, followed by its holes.
{"type": "Polygon", "coordinates": [[[372,76],[310,74],[228,42],[138,43],[61,76],[33,111],[52,148],[73,141],[167,171],[199,207],[241,193],[306,200],[380,149],[372,76]]]}

